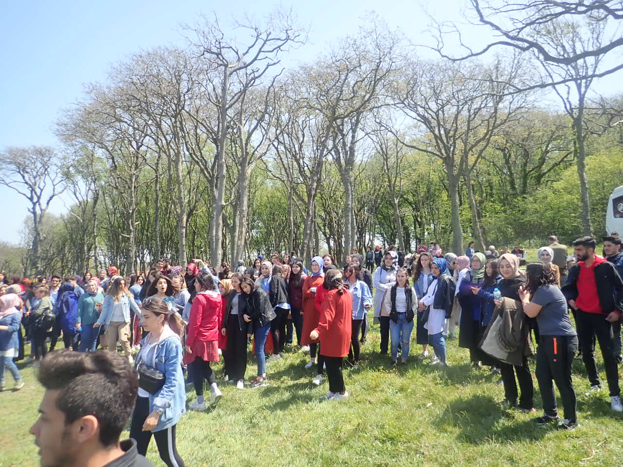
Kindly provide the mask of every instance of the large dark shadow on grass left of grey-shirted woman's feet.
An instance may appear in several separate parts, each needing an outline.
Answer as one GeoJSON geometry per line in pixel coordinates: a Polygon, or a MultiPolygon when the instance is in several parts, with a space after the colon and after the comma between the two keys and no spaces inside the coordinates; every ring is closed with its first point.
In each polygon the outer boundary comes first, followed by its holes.
{"type": "Polygon", "coordinates": [[[476,395],[455,399],[442,412],[437,424],[460,430],[457,438],[465,443],[481,445],[495,440],[498,443],[541,440],[548,428],[537,427],[531,420],[518,420],[509,425],[503,418],[512,417],[492,397],[476,395]]]}

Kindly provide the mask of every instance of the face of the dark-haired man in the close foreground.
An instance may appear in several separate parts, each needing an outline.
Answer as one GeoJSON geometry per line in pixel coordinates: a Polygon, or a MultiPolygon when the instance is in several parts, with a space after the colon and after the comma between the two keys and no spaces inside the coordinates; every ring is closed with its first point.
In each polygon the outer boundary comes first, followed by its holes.
{"type": "Polygon", "coordinates": [[[56,407],[59,390],[46,390],[39,405],[39,418],[30,433],[35,436],[42,467],[72,465],[76,444],[72,439],[73,425],[65,425],[65,414],[56,407]]]}

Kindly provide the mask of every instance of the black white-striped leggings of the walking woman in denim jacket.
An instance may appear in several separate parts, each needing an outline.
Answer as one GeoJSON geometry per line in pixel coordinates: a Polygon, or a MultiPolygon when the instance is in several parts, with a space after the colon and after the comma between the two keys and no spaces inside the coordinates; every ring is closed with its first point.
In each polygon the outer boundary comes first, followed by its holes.
{"type": "Polygon", "coordinates": [[[158,432],[143,432],[143,423],[150,415],[150,399],[149,397],[137,397],[134,413],[132,414],[132,422],[130,425],[130,438],[136,440],[136,450],[141,456],[147,455],[147,448],[150,445],[151,435],[156,440],[158,453],[160,458],[168,467],[184,467],[184,461],[178,454],[175,442],[175,428],[165,428],[158,432]]]}

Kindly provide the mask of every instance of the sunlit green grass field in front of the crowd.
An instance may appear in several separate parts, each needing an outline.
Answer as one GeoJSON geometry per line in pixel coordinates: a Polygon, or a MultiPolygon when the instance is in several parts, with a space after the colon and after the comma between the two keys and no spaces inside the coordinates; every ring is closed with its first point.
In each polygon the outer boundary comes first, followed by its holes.
{"type": "MultiPolygon", "coordinates": [[[[269,387],[221,385],[223,398],[214,410],[187,413],[178,425],[186,466],[623,465],[623,417],[611,412],[605,389],[585,395],[589,384],[581,361],[574,362],[581,427],[561,432],[533,426],[534,414],[500,407],[502,385],[487,370],[470,370],[467,351],[456,341],[449,345],[447,369],[414,358],[390,369],[387,357],[373,354],[377,327],[369,337],[365,363],[345,370],[348,400],[320,400],[328,387],[312,386],[315,371],[303,369],[302,353],[268,364],[269,387]]],[[[412,355],[420,351],[412,348],[412,355]]],[[[28,430],[42,389],[34,369],[26,367],[22,374],[24,389],[0,393],[1,467],[39,462],[28,430]]],[[[254,376],[250,359],[247,378],[254,376]]],[[[535,403],[540,415],[538,390],[535,403]]],[[[148,457],[163,465],[153,442],[148,457]]]]}

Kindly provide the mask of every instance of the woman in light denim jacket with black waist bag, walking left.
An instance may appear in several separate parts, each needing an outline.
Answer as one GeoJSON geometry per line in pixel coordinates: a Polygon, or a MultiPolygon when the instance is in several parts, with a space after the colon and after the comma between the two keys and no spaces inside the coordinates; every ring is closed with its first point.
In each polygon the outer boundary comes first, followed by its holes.
{"type": "Polygon", "coordinates": [[[141,388],[139,379],[130,438],[136,440],[138,452],[145,456],[153,435],[163,462],[169,467],[184,467],[176,448],[176,427],[186,412],[186,389],[181,367],[183,324],[179,314],[171,311],[168,304],[158,298],[143,300],[141,311],[141,324],[149,333],[141,341],[136,370],[140,372],[141,365],[158,370],[164,376],[164,385],[151,394],[141,388]]]}

